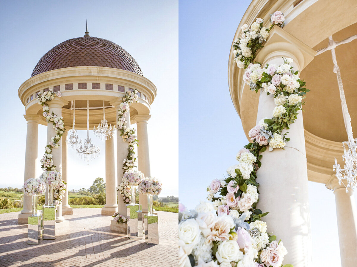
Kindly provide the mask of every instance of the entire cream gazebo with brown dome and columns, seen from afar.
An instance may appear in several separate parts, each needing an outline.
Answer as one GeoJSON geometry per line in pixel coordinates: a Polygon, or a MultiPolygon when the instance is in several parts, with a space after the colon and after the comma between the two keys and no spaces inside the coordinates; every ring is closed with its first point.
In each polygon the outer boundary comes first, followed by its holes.
{"type": "MultiPolygon", "coordinates": [[[[142,74],[139,64],[125,49],[115,43],[89,36],[72,38],[64,41],[47,52],[35,66],[31,78],[19,88],[19,98],[25,106],[27,121],[25,180],[39,177],[36,173],[38,124],[47,125],[42,116],[42,106],[37,95],[45,91],[61,92],[62,97],[48,103],[49,111],[62,116],[65,128],[72,128],[73,109],[71,101],[75,101],[75,129],[87,129],[87,100],[89,100],[89,129],[101,124],[105,108],[105,119],[108,124],[117,125],[119,105],[127,91],[138,90],[139,103],[130,106],[130,116],[126,117],[129,127],[137,125],[137,139],[140,140],[138,152],[138,168],[150,177],[149,144],[147,138],[147,121],[150,118],[150,105],[156,96],[155,85],[142,74]],[[104,101],[104,102],[103,102],[104,101]],[[104,104],[103,104],[104,103],[104,104]],[[104,106],[104,108],[103,108],[104,106]]],[[[47,125],[47,143],[55,135],[52,123],[47,125]]],[[[117,184],[123,176],[122,162],[128,153],[128,143],[122,141],[117,132],[117,184]]],[[[70,187],[70,175],[67,174],[67,133],[61,139],[60,148],[52,151],[54,165],[62,173],[67,188],[70,187]]],[[[105,141],[106,169],[106,204],[102,214],[112,215],[118,211],[126,214],[125,203],[118,195],[115,182],[114,138],[105,141]]],[[[57,209],[56,227],[66,225],[62,215],[72,214],[68,205],[68,191],[57,209]]],[[[145,196],[139,197],[143,211],[147,211],[145,196]]],[[[24,208],[19,214],[19,223],[27,223],[31,214],[31,197],[24,196],[24,208]]]]}

